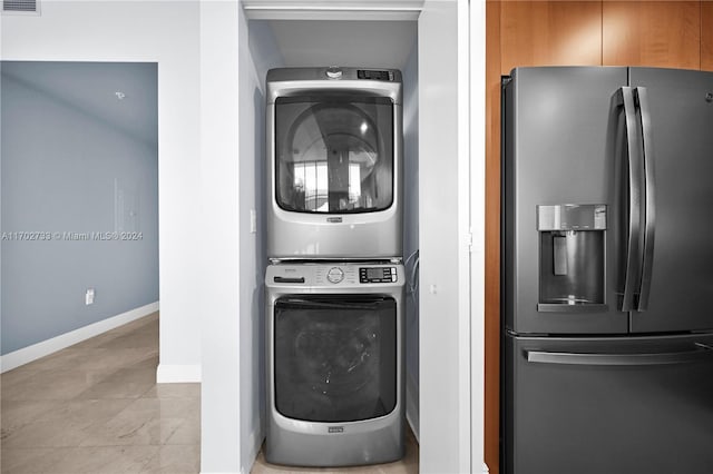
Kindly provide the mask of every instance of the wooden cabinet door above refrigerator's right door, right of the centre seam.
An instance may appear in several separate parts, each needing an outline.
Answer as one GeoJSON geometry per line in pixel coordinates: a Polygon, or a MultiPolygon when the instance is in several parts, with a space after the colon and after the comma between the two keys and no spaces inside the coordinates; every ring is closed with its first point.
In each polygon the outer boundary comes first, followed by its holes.
{"type": "Polygon", "coordinates": [[[604,66],[701,67],[699,1],[603,2],[604,66]]]}

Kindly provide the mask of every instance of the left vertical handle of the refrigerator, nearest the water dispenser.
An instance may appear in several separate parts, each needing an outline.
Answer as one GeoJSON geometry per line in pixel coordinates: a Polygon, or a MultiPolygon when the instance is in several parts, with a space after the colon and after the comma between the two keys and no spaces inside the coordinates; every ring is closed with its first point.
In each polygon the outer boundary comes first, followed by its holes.
{"type": "Polygon", "coordinates": [[[613,103],[624,108],[624,126],[626,131],[626,159],[628,165],[628,238],[626,244],[626,273],[624,278],[623,312],[636,308],[635,289],[641,283],[641,211],[642,211],[642,180],[643,164],[641,140],[636,120],[636,103],[631,87],[622,87],[614,95],[613,103]]]}

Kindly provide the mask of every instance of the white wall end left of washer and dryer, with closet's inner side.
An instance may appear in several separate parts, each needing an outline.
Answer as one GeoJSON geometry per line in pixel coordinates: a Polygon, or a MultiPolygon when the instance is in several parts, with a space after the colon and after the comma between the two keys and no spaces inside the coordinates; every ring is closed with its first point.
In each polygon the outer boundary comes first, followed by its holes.
{"type": "Polygon", "coordinates": [[[248,26],[237,2],[202,2],[201,22],[203,228],[209,238],[202,270],[202,472],[247,473],[264,437],[263,87],[282,57],[267,23],[248,26]]]}

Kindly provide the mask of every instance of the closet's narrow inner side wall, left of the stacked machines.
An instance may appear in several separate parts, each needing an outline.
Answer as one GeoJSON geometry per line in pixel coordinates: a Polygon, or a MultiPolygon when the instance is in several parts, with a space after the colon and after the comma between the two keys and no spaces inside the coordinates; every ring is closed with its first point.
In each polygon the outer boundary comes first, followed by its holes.
{"type": "Polygon", "coordinates": [[[248,473],[265,437],[265,317],[264,277],[265,191],[265,75],[283,66],[266,22],[248,22],[240,12],[240,196],[241,228],[250,229],[251,210],[257,218],[254,234],[241,233],[241,472],[248,473]],[[252,24],[251,24],[252,23],[252,24]]]}

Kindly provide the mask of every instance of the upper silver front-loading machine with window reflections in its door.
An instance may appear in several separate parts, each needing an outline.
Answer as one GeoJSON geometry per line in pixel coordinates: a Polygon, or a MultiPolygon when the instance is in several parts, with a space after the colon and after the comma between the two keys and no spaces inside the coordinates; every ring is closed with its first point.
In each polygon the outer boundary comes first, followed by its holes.
{"type": "Polygon", "coordinates": [[[401,257],[401,72],[272,69],[266,89],[267,257],[401,257]]]}

